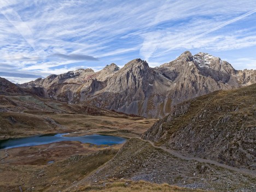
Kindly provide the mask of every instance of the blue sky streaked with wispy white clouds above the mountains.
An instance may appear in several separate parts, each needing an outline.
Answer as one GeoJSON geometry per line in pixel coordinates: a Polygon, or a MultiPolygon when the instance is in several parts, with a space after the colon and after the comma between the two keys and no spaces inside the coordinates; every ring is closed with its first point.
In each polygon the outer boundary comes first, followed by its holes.
{"type": "Polygon", "coordinates": [[[186,50],[256,69],[256,1],[0,1],[0,77],[13,83],[186,50]]]}

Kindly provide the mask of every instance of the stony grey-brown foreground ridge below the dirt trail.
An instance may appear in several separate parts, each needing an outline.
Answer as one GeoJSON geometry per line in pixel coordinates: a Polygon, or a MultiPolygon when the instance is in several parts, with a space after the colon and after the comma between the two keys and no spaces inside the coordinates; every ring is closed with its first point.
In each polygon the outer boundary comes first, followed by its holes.
{"type": "Polygon", "coordinates": [[[132,138],[115,158],[78,184],[109,178],[168,183],[180,187],[213,191],[255,191],[255,177],[213,164],[182,160],[149,142],[132,138]]]}

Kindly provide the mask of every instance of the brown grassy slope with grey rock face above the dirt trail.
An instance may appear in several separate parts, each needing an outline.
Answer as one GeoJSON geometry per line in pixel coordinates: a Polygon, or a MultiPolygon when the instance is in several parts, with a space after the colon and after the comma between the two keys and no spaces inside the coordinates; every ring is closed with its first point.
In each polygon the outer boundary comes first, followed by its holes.
{"type": "Polygon", "coordinates": [[[194,98],[176,106],[143,139],[201,158],[250,168],[256,165],[256,84],[194,98]]]}

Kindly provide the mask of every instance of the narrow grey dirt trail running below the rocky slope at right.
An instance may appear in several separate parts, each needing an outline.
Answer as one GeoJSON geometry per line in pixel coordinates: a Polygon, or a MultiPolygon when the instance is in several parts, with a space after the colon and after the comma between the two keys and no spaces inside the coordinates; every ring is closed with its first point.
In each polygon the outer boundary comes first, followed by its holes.
{"type": "MultiPolygon", "coordinates": [[[[137,138],[139,138],[139,137],[137,137],[137,138]]],[[[227,168],[231,171],[235,171],[235,172],[238,172],[238,173],[241,173],[241,174],[247,174],[249,176],[256,177],[256,172],[255,171],[248,170],[246,168],[237,168],[237,167],[232,167],[232,166],[225,165],[225,164],[220,164],[220,162],[213,161],[211,159],[201,159],[201,158],[194,157],[194,156],[184,156],[184,154],[178,152],[177,150],[167,149],[164,146],[160,146],[160,147],[155,146],[155,144],[152,141],[144,140],[142,138],[139,138],[139,139],[141,139],[142,141],[149,142],[150,144],[152,144],[153,147],[162,149],[165,152],[168,152],[171,155],[176,156],[177,158],[180,158],[180,159],[183,159],[183,160],[188,160],[188,161],[195,160],[195,161],[199,161],[199,162],[205,162],[207,164],[214,164],[214,165],[219,166],[219,167],[227,168]]]]}

